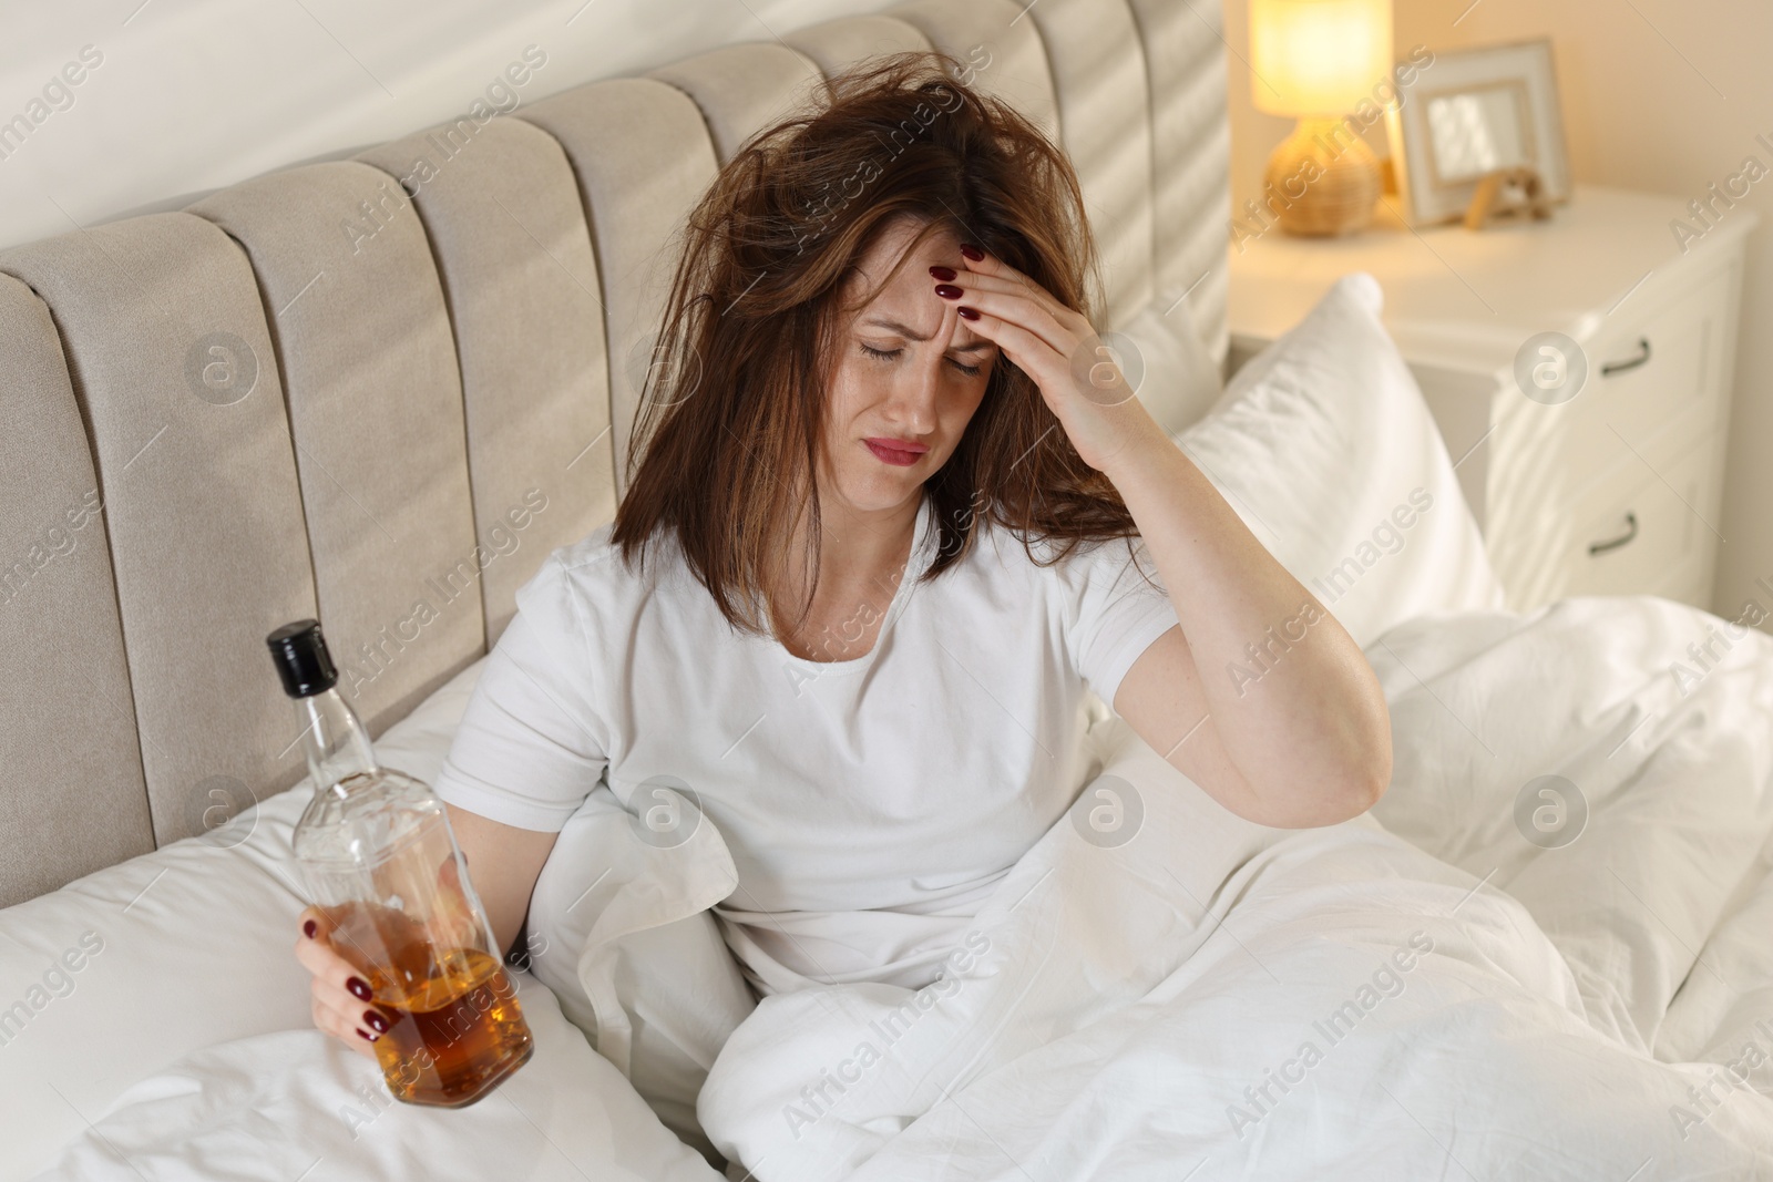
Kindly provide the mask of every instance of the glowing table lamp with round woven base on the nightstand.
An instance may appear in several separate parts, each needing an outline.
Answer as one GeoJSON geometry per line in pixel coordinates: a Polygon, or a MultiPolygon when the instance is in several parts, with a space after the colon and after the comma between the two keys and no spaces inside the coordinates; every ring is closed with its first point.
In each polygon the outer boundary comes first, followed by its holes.
{"type": "Polygon", "coordinates": [[[1351,234],[1372,220],[1379,161],[1356,106],[1390,96],[1392,0],[1250,0],[1255,108],[1300,122],[1268,159],[1262,204],[1293,234],[1351,234]]]}

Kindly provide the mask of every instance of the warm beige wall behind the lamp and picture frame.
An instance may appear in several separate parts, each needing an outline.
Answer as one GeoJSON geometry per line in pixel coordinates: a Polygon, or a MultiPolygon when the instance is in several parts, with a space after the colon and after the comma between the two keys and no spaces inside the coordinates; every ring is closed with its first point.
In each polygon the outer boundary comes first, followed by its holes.
{"type": "MultiPolygon", "coordinates": [[[[1206,0],[1186,0],[1204,4],[1206,0]]],[[[1695,198],[1736,172],[1753,138],[1773,138],[1773,5],[1766,0],[1394,0],[1399,55],[1551,37],[1576,181],[1695,198]],[[1463,16],[1461,16],[1463,12],[1463,16]],[[1454,23],[1457,19],[1457,25],[1454,23]]],[[[1230,44],[1232,202],[1241,206],[1289,121],[1250,105],[1246,0],[1223,0],[1230,44]]],[[[1376,151],[1385,154],[1383,128],[1376,151]]],[[[1732,617],[1750,595],[1773,610],[1773,177],[1738,211],[1759,213],[1748,239],[1736,399],[1725,471],[1713,610],[1732,617]]],[[[1734,213],[1734,211],[1732,211],[1734,213]]],[[[1670,239],[1672,241],[1672,239],[1670,239]]]]}

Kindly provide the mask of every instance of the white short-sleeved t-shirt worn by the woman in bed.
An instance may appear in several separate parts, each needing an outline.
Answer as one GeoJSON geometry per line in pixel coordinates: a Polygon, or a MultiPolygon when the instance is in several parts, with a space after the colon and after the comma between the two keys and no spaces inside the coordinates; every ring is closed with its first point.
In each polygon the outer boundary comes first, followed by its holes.
{"type": "Polygon", "coordinates": [[[933,514],[874,647],[847,661],[730,627],[670,537],[644,576],[608,525],[557,549],[516,594],[438,796],[558,831],[603,774],[637,813],[670,778],[732,852],[739,884],[715,914],[754,989],[936,980],[1083,787],[1085,682],[1112,704],[1175,611],[1138,539],[1138,569],[1121,539],[1039,567],[984,521],[918,583],[933,514]]]}

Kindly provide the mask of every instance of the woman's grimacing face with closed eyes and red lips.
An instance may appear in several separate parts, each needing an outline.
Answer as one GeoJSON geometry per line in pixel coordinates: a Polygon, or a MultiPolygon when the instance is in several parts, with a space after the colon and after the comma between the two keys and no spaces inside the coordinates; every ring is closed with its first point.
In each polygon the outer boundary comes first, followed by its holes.
{"type": "MultiPolygon", "coordinates": [[[[878,284],[918,225],[901,220],[862,255],[855,280],[878,284]]],[[[933,234],[872,303],[839,331],[826,390],[821,494],[860,512],[888,510],[920,493],[961,441],[996,363],[996,346],[934,294],[929,268],[963,273],[961,243],[933,234]]]]}

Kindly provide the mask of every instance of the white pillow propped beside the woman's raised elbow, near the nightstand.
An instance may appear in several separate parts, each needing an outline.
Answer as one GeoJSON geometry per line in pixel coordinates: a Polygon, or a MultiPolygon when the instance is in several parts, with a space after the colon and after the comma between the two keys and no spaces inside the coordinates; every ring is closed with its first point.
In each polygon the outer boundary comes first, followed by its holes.
{"type": "Polygon", "coordinates": [[[1383,303],[1371,275],[1344,276],[1172,436],[1363,649],[1417,615],[1504,608],[1383,303]]]}

